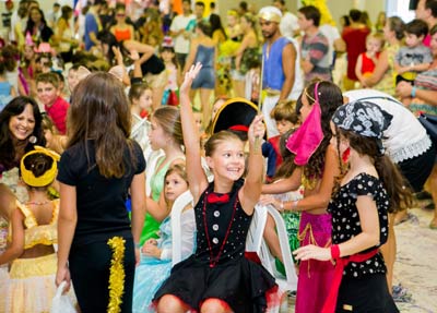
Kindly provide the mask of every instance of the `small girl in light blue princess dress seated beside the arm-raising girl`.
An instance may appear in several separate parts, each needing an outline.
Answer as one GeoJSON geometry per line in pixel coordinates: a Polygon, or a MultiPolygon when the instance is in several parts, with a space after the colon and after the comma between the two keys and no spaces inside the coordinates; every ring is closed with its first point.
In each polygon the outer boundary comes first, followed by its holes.
{"type": "MultiPolygon", "coordinates": [[[[188,190],[187,173],[182,164],[173,165],[165,174],[164,197],[167,212],[176,198],[188,190]]],[[[149,202],[147,204],[150,204],[149,202]]],[[[158,205],[156,205],[158,206],[158,205]]],[[[150,206],[147,206],[150,209],[150,206]]],[[[157,209],[163,209],[158,207],[157,209]]],[[[192,206],[184,208],[181,215],[182,260],[192,253],[196,221],[192,206]]],[[[172,270],[172,222],[168,215],[160,227],[160,238],[149,239],[142,246],[140,265],[135,269],[132,312],[152,313],[152,298],[172,270]]]]}

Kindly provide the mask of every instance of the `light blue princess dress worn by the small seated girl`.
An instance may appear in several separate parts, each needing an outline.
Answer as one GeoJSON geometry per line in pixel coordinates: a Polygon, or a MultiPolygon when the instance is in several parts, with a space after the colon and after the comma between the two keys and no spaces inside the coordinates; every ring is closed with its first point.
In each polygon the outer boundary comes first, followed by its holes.
{"type": "MultiPolygon", "coordinates": [[[[188,209],[181,215],[182,230],[182,258],[193,251],[196,222],[193,209],[188,209]]],[[[152,298],[172,270],[172,222],[166,217],[160,227],[161,237],[157,248],[162,250],[161,258],[141,255],[140,265],[135,269],[133,284],[133,313],[153,313],[152,298]]]]}

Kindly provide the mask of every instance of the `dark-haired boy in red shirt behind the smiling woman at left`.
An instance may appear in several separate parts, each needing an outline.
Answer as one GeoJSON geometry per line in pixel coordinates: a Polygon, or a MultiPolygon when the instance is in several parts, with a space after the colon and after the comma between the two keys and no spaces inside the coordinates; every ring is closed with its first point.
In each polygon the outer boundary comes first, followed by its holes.
{"type": "Polygon", "coordinates": [[[44,105],[47,115],[54,121],[59,133],[67,131],[67,110],[69,103],[60,97],[60,82],[55,73],[43,73],[36,76],[36,91],[39,101],[44,105]]]}

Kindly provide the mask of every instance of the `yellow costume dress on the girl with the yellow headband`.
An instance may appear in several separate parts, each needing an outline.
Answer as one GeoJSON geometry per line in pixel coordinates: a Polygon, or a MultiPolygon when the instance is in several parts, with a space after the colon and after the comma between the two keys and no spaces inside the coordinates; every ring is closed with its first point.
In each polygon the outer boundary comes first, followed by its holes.
{"type": "MultiPolygon", "coordinates": [[[[37,244],[52,245],[58,242],[59,200],[52,201],[52,204],[51,221],[47,225],[38,225],[33,212],[27,206],[16,202],[17,209],[24,215],[24,249],[37,244]]],[[[10,230],[9,238],[11,238],[11,232],[10,230]]],[[[49,312],[57,289],[55,285],[56,270],[56,253],[33,258],[14,260],[11,263],[5,312],[49,312]]]]}

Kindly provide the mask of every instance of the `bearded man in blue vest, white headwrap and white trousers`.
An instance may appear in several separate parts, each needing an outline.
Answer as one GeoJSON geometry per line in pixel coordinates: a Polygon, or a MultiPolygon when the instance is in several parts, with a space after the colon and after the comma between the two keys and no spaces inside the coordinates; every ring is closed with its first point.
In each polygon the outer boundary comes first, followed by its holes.
{"type": "Polygon", "coordinates": [[[259,23],[265,43],[262,47],[262,113],[268,136],[279,135],[270,112],[280,100],[297,99],[303,89],[299,75],[297,43],[281,35],[282,13],[275,7],[264,7],[259,12],[259,23]]]}

